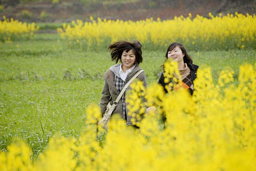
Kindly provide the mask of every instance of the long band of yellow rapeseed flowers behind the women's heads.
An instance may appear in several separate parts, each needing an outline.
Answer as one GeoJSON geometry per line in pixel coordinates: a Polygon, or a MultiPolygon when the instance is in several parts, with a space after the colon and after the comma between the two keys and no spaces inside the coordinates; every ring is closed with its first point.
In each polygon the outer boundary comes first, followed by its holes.
{"type": "Polygon", "coordinates": [[[76,20],[73,26],[63,24],[58,33],[69,46],[92,48],[118,40],[136,39],[145,48],[166,48],[170,42],[180,42],[189,49],[256,48],[256,16],[227,14],[209,18],[189,14],[161,21],[146,19],[123,21],[117,19],[92,22],[76,20]]]}

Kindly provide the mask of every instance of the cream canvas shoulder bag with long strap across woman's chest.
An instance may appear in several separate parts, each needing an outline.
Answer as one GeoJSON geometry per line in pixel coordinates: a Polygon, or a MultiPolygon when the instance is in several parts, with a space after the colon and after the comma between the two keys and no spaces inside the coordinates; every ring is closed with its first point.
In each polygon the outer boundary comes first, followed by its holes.
{"type": "Polygon", "coordinates": [[[110,121],[110,117],[112,112],[114,111],[114,109],[116,108],[116,105],[118,103],[118,101],[121,99],[122,95],[125,92],[125,89],[130,85],[130,83],[136,78],[138,77],[138,75],[143,72],[143,70],[138,71],[129,81],[128,83],[126,83],[124,85],[124,88],[122,89],[122,91],[119,93],[119,95],[117,96],[116,100],[113,102],[113,104],[111,105],[110,101],[108,102],[107,105],[107,109],[105,111],[105,113],[103,114],[102,119],[98,122],[97,125],[101,126],[102,128],[104,128],[106,131],[108,131],[108,123],[110,121]]]}

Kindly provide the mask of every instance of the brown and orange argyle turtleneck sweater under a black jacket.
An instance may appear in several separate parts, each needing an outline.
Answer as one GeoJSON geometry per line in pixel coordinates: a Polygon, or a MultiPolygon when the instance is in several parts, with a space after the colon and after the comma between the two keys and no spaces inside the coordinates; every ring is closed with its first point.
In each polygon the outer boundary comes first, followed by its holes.
{"type": "Polygon", "coordinates": [[[169,86],[169,89],[171,90],[179,90],[181,87],[189,90],[190,94],[193,94],[194,87],[193,87],[193,81],[191,79],[190,69],[187,66],[187,63],[185,63],[185,69],[181,69],[180,76],[173,74],[174,77],[180,80],[180,82],[175,82],[174,80],[170,80],[169,83],[164,83],[164,73],[161,74],[161,77],[158,81],[159,84],[163,85],[165,93],[167,93],[166,86],[169,86]],[[171,83],[171,84],[170,84],[171,83]],[[172,85],[172,87],[170,86],[172,85]]]}

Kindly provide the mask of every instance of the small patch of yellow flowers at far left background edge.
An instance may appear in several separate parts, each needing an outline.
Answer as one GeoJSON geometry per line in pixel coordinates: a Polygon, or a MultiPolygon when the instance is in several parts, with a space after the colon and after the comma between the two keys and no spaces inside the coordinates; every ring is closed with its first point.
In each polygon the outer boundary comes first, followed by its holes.
{"type": "Polygon", "coordinates": [[[27,24],[18,20],[6,19],[0,21],[0,43],[11,43],[17,39],[33,39],[34,32],[39,29],[39,26],[35,26],[35,23],[27,24]]]}

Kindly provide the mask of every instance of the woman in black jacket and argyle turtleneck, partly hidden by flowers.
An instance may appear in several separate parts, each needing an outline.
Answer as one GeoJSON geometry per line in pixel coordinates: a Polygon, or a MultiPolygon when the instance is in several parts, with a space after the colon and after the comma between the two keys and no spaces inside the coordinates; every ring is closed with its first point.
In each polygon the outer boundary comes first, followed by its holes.
{"type": "MultiPolygon", "coordinates": [[[[164,87],[165,93],[172,90],[185,89],[191,95],[194,92],[194,80],[196,79],[197,65],[192,64],[193,60],[188,55],[186,49],[180,43],[172,43],[167,48],[165,54],[166,62],[163,68],[164,72],[161,74],[158,84],[164,87]],[[171,61],[171,63],[169,63],[171,61]],[[174,71],[170,71],[167,66],[174,65],[174,71]],[[175,67],[176,65],[176,67],[175,67]],[[167,68],[167,70],[165,69],[167,68]],[[175,68],[177,68],[175,70],[175,68]]],[[[165,114],[162,114],[162,122],[165,122],[165,114]]]]}

